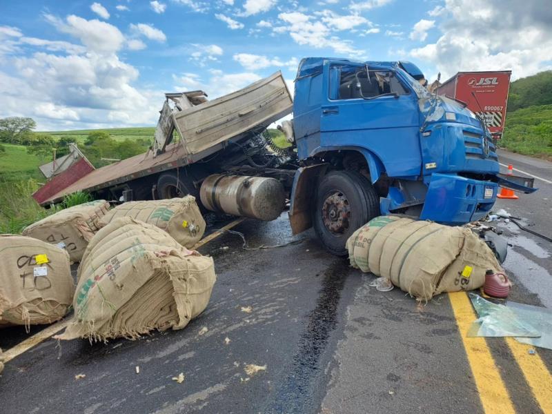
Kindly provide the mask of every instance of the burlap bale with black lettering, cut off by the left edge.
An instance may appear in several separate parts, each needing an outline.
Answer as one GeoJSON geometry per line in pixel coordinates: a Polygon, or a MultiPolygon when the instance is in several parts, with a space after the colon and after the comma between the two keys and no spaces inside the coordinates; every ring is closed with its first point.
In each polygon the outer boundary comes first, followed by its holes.
{"type": "Polygon", "coordinates": [[[31,237],[0,235],[0,326],[50,324],[71,305],[68,253],[31,237]]]}

